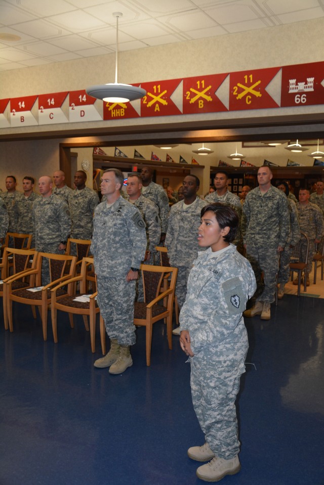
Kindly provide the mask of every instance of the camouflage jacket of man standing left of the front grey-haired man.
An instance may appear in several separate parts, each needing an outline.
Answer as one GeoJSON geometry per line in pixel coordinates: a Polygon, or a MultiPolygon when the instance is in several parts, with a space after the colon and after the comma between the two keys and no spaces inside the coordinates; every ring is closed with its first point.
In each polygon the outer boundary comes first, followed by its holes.
{"type": "Polygon", "coordinates": [[[99,204],[97,192],[85,187],[75,189],[69,196],[72,229],[71,237],[75,239],[91,239],[93,231],[93,214],[99,204]]]}

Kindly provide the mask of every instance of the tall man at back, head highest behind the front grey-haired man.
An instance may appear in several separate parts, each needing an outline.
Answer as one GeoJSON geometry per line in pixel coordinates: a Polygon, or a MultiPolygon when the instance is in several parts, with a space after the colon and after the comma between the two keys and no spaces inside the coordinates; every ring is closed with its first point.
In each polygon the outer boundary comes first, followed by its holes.
{"type": "Polygon", "coordinates": [[[169,199],[163,187],[152,182],[153,170],[150,167],[143,167],[141,170],[142,179],[142,194],[147,199],[150,199],[158,207],[159,217],[161,219],[161,239],[163,242],[166,238],[168,214],[169,214],[169,199]]]}

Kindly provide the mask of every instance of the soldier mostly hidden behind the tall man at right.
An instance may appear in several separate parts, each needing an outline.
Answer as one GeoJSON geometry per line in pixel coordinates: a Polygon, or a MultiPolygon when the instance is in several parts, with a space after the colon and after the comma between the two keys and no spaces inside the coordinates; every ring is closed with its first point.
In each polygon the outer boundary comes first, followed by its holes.
{"type": "Polygon", "coordinates": [[[285,294],[285,285],[289,281],[290,268],[289,263],[291,262],[291,255],[293,247],[296,246],[300,240],[300,227],[299,227],[299,216],[298,210],[295,202],[289,197],[289,185],[287,182],[277,182],[277,189],[281,190],[286,194],[288,198],[289,212],[290,212],[290,231],[286,242],[284,251],[280,252],[280,269],[278,273],[278,298],[282,298],[285,294]]]}

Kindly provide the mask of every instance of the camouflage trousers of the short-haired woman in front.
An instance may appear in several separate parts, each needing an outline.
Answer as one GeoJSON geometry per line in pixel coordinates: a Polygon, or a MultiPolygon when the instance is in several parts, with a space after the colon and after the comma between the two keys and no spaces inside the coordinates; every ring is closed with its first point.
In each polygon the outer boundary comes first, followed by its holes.
{"type": "Polygon", "coordinates": [[[235,400],[245,358],[236,362],[190,358],[190,385],[194,411],[206,442],[216,456],[229,460],[239,453],[235,400]]]}

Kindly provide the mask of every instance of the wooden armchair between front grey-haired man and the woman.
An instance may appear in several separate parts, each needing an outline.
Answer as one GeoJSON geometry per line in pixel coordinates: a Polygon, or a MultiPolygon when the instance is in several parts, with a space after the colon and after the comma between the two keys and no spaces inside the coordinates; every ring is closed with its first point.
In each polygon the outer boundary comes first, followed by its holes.
{"type": "Polygon", "coordinates": [[[167,320],[168,343],[169,348],[172,349],[172,312],[178,268],[141,264],[141,271],[144,302],[135,302],[134,325],[146,327],[146,365],[149,366],[151,363],[153,323],[161,319],[167,320]],[[167,274],[170,276],[169,287],[167,290],[160,292],[161,285],[167,274]],[[164,302],[165,298],[167,298],[167,304],[164,302]],[[164,304],[159,304],[161,302],[164,304]]]}

